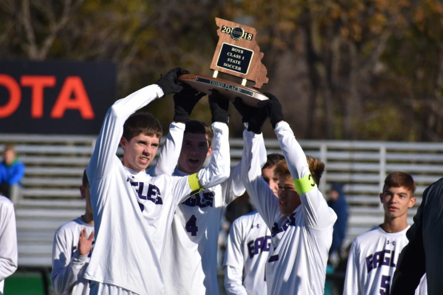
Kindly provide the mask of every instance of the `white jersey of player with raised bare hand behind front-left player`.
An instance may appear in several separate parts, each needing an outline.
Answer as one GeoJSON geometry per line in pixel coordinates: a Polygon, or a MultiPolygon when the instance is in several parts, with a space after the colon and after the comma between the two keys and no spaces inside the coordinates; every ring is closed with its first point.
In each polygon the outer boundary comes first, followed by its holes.
{"type": "MultiPolygon", "coordinates": [[[[59,227],[52,247],[51,282],[60,294],[89,295],[89,281],[83,278],[91,259],[91,252],[81,256],[78,252],[80,233],[86,228],[86,237],[94,232],[94,225],[87,224],[81,217],[59,227]]],[[[94,247],[94,241],[93,241],[94,247]]]]}

